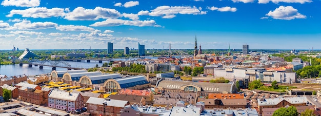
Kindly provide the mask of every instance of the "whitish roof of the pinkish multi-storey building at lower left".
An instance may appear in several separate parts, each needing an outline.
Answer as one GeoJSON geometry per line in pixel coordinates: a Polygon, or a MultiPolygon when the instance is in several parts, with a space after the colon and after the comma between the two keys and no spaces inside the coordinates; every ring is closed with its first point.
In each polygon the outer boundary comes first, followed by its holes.
{"type": "Polygon", "coordinates": [[[67,101],[76,101],[76,99],[80,96],[80,93],[67,92],[58,89],[51,90],[48,98],[59,99],[59,100],[67,100],[67,101]]]}

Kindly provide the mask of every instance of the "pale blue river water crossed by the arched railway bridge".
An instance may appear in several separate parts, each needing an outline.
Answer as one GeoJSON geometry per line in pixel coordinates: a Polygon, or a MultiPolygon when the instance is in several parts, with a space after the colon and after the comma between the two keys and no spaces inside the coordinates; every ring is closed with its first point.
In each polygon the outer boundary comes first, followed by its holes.
{"type": "MultiPolygon", "coordinates": [[[[157,57],[151,57],[151,59],[157,59],[157,57]]],[[[128,60],[135,60],[135,59],[114,59],[115,61],[128,61],[128,60]]],[[[90,61],[90,63],[87,63],[86,61],[82,62],[71,62],[66,61],[71,65],[71,67],[74,68],[93,68],[98,64],[99,67],[103,66],[105,61],[103,63],[98,63],[98,61],[90,61]]],[[[109,63],[109,62],[107,62],[109,63]]],[[[56,70],[67,70],[67,68],[56,68],[56,70]]],[[[26,74],[26,75],[37,75],[37,74],[45,74],[45,73],[51,73],[52,67],[44,66],[43,69],[39,69],[39,66],[28,67],[28,64],[23,64],[23,66],[17,65],[0,65],[0,74],[1,75],[7,75],[7,76],[13,76],[13,75],[19,75],[19,74],[26,74]]]]}

